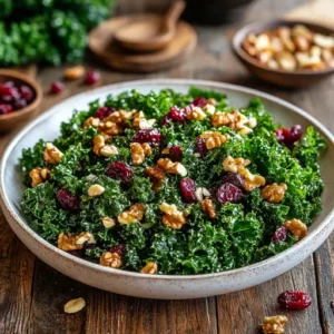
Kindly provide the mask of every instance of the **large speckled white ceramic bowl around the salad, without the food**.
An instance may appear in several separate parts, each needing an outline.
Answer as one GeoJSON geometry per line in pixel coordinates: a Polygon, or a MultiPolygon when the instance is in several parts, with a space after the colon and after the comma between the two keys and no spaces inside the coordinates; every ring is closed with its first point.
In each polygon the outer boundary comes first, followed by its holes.
{"type": "Polygon", "coordinates": [[[11,228],[26,246],[65,275],[88,285],[130,296],[165,299],[206,297],[239,291],[276,277],[310,256],[328,237],[334,227],[333,161],[333,135],[308,114],[276,97],[228,84],[200,80],[160,79],[122,82],[67,99],[38,117],[18,134],[7,147],[0,166],[1,206],[11,228]],[[89,101],[97,98],[104,100],[111,92],[119,94],[134,88],[140,92],[164,88],[186,92],[191,85],[226,92],[230,105],[236,107],[244,107],[252,97],[258,96],[276,121],[287,127],[294,124],[301,124],[304,127],[313,125],[325,137],[328,149],[320,161],[325,183],[322,197],[324,208],[312,224],[306,238],[276,256],[243,268],[217,274],[170,276],[146,275],[102,267],[58,249],[29,227],[20,209],[23,186],[17,165],[22,148],[31,147],[40,138],[52,140],[59,135],[60,122],[70,117],[73,108],[84,110],[89,101]]]}

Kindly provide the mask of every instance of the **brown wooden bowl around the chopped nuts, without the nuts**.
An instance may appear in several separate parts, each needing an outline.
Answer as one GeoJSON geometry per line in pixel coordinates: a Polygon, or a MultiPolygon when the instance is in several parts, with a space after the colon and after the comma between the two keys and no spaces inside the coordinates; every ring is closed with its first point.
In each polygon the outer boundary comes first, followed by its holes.
{"type": "Polygon", "coordinates": [[[323,70],[295,70],[292,72],[272,69],[261,65],[258,60],[249,56],[243,48],[243,41],[249,33],[257,35],[262,31],[275,29],[282,26],[293,27],[295,24],[304,24],[314,32],[334,35],[333,29],[304,21],[275,20],[269,22],[256,22],[247,24],[236,32],[232,41],[234,53],[250,73],[265,81],[284,87],[308,87],[333,75],[334,68],[326,68],[323,70]]]}

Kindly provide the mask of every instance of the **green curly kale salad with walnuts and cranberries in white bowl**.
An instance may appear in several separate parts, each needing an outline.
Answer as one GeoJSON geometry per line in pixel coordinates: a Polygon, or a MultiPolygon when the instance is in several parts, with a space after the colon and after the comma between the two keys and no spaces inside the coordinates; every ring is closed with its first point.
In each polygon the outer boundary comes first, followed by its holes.
{"type": "Polygon", "coordinates": [[[191,275],[243,267],[307,235],[321,212],[313,128],[262,101],[191,87],[110,95],[24,149],[22,209],[46,240],[118,269],[191,275]]]}

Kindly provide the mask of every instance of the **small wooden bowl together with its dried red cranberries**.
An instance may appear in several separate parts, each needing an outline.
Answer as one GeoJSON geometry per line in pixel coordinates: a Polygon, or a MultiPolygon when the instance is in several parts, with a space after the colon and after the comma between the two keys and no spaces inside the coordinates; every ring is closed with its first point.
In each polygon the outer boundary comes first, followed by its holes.
{"type": "Polygon", "coordinates": [[[0,70],[0,132],[35,116],[42,99],[40,86],[14,70],[0,70]]]}

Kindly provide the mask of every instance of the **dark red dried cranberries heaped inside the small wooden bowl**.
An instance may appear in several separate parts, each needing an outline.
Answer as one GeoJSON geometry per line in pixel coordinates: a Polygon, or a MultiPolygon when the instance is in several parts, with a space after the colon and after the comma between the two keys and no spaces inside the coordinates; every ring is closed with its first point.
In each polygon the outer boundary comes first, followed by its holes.
{"type": "Polygon", "coordinates": [[[20,110],[35,99],[33,90],[27,85],[13,81],[0,84],[0,115],[20,110]]]}

